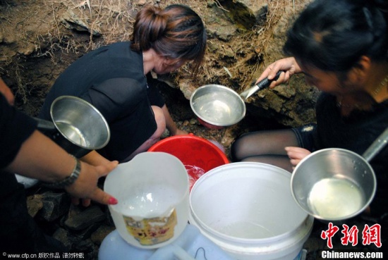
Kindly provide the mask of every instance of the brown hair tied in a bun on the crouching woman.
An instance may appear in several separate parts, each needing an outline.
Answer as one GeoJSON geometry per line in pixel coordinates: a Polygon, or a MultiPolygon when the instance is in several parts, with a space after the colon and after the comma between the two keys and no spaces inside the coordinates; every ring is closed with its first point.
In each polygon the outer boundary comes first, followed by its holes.
{"type": "Polygon", "coordinates": [[[206,39],[205,25],[188,6],[147,6],[136,16],[131,49],[152,48],[162,56],[193,61],[197,71],[205,56],[206,39]]]}

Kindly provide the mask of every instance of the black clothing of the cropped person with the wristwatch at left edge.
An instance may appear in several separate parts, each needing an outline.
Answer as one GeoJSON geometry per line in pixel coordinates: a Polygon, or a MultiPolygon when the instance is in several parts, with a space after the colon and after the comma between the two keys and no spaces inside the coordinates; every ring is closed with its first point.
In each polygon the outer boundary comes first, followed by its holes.
{"type": "Polygon", "coordinates": [[[63,245],[37,228],[28,213],[24,186],[4,171],[23,142],[35,131],[35,120],[10,106],[0,94],[0,252],[61,252],[63,245]]]}

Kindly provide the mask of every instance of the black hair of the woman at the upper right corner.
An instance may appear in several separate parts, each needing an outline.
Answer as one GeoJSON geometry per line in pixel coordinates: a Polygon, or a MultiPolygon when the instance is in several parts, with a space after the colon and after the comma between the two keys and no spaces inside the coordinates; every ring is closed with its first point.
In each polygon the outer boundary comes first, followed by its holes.
{"type": "Polygon", "coordinates": [[[387,61],[387,0],[316,0],[288,33],[284,52],[327,71],[347,72],[365,55],[387,61]]]}

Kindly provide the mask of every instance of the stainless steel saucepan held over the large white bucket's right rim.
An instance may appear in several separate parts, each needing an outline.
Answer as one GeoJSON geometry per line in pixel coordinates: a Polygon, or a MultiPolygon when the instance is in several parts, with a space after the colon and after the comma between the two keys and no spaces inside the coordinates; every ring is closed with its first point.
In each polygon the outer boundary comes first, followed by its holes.
{"type": "Polygon", "coordinates": [[[363,212],[376,192],[368,163],[387,144],[388,128],[363,156],[330,148],[306,156],[291,176],[291,192],[301,208],[323,221],[342,221],[363,212]]]}

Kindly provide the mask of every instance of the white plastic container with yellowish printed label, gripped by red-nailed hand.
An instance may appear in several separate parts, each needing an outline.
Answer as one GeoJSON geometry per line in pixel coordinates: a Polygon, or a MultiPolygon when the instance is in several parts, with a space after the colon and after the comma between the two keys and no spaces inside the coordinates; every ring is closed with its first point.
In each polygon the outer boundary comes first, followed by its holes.
{"type": "Polygon", "coordinates": [[[170,244],[188,224],[188,175],[171,154],[144,152],[119,164],[104,190],[118,199],[109,211],[123,240],[135,247],[170,244]]]}

